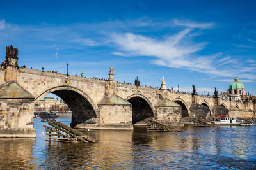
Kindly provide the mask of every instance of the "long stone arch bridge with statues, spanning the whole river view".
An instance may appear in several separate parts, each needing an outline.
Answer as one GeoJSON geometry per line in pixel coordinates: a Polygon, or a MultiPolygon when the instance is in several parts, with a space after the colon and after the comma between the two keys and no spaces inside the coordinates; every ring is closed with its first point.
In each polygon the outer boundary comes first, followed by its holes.
{"type": "Polygon", "coordinates": [[[17,60],[7,54],[1,66],[0,129],[33,129],[35,102],[49,93],[68,104],[70,126],[77,128],[132,129],[145,118],[182,125],[183,117],[211,119],[228,111],[237,115],[255,110],[253,103],[168,90],[164,78],[161,89],[118,83],[112,67],[108,80],[98,80],[18,67],[17,60]]]}

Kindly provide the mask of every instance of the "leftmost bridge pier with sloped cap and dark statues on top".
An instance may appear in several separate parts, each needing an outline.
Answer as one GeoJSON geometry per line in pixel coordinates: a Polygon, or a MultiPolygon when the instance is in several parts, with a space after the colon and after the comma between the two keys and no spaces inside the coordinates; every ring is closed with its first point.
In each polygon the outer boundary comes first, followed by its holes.
{"type": "Polygon", "coordinates": [[[6,46],[5,58],[0,69],[5,81],[0,85],[0,137],[34,138],[35,97],[17,83],[18,49],[6,46]]]}

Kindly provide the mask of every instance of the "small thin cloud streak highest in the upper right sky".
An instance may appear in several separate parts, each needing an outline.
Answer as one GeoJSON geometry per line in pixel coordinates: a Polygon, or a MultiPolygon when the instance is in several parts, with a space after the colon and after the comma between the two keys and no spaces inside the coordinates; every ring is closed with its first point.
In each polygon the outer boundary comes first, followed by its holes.
{"type": "Polygon", "coordinates": [[[177,19],[174,20],[174,23],[180,26],[199,28],[199,29],[207,29],[214,26],[213,22],[200,23],[200,22],[193,22],[190,20],[177,20],[177,19]]]}

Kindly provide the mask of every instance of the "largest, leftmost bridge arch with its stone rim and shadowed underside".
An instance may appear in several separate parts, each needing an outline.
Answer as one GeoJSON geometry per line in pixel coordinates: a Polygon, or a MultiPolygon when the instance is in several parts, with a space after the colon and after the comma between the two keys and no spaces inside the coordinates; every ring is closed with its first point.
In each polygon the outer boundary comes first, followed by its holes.
{"type": "Polygon", "coordinates": [[[75,127],[77,124],[86,122],[91,118],[99,118],[97,105],[83,90],[67,85],[52,87],[37,96],[35,102],[49,93],[61,97],[67,103],[72,111],[71,127],[75,127]]]}

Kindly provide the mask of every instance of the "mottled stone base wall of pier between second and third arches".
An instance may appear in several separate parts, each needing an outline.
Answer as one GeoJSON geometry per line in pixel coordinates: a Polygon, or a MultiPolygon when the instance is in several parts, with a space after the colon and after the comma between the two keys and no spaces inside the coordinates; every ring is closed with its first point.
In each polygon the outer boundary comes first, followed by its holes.
{"type": "Polygon", "coordinates": [[[156,106],[155,120],[167,125],[181,124],[181,107],[156,106]]]}

